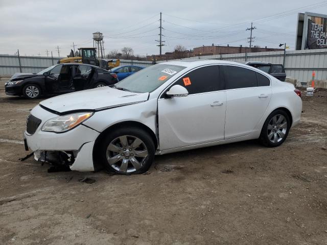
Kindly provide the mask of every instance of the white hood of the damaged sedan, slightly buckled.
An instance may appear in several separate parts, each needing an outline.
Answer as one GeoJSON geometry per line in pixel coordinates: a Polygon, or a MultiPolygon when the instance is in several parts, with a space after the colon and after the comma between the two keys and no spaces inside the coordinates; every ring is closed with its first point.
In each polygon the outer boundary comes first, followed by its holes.
{"type": "Polygon", "coordinates": [[[100,87],[67,93],[40,102],[52,111],[97,111],[147,101],[149,93],[133,93],[110,87],[100,87]]]}

